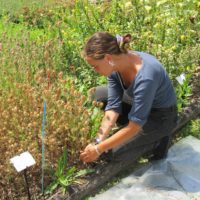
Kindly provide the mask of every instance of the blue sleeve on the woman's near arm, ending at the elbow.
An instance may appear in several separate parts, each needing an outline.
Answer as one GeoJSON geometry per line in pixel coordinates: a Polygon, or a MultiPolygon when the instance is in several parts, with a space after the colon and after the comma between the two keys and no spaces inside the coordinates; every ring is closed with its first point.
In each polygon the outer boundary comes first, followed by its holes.
{"type": "Polygon", "coordinates": [[[130,121],[133,121],[140,126],[143,126],[146,123],[156,90],[157,83],[155,80],[141,79],[138,81],[134,86],[132,108],[128,114],[130,121]]]}

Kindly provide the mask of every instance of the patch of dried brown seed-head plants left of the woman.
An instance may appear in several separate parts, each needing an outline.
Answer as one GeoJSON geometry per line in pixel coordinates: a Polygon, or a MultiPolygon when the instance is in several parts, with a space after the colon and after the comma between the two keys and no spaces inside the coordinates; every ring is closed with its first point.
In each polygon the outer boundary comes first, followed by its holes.
{"type": "Polygon", "coordinates": [[[87,98],[75,88],[73,80],[62,76],[54,70],[40,70],[34,76],[34,86],[13,83],[8,91],[0,91],[0,151],[4,152],[0,170],[4,177],[13,177],[9,158],[26,150],[36,159],[34,170],[40,168],[44,101],[47,103],[46,165],[54,169],[65,147],[69,164],[79,162],[80,150],[91,139],[92,112],[85,106],[87,98]]]}

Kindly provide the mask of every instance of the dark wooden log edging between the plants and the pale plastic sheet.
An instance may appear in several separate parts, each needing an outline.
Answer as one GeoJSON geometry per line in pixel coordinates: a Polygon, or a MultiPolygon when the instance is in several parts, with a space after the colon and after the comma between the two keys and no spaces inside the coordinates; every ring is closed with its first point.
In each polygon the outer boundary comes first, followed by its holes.
{"type": "MultiPolygon", "coordinates": [[[[200,78],[199,69],[196,70],[193,79],[200,78]]],[[[179,114],[179,120],[177,126],[173,130],[174,137],[176,133],[185,126],[190,120],[197,118],[200,115],[200,96],[199,84],[193,84],[193,95],[192,103],[185,107],[182,112],[179,114]]],[[[131,146],[131,145],[130,145],[131,146]]],[[[95,172],[91,175],[88,175],[85,179],[82,179],[82,184],[73,185],[69,190],[69,193],[63,194],[61,191],[58,191],[56,194],[51,196],[48,200],[81,200],[87,196],[94,195],[112,178],[117,176],[120,172],[132,168],[137,159],[145,154],[149,155],[151,150],[153,150],[154,144],[148,146],[141,146],[137,149],[131,150],[126,149],[122,151],[123,154],[113,154],[112,156],[105,155],[105,158],[109,158],[107,162],[103,164],[98,163],[96,165],[95,172]]]]}

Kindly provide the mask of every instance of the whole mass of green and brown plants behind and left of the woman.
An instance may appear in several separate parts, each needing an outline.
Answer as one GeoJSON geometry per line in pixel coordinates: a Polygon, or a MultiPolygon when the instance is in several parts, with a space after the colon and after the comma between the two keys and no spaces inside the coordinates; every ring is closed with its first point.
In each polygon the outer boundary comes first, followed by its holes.
{"type": "MultiPolygon", "coordinates": [[[[106,84],[81,57],[94,32],[132,34],[133,50],[151,53],[165,66],[179,111],[190,103],[190,78],[199,66],[198,0],[0,0],[0,5],[1,194],[23,193],[14,184],[20,181],[9,158],[25,150],[36,158],[32,173],[40,178],[44,101],[48,167],[55,169],[64,147],[69,163],[80,164],[79,150],[94,137],[102,116],[87,91],[106,84]],[[183,85],[175,79],[181,73],[186,74],[183,85]]],[[[199,121],[192,121],[182,135],[190,130],[200,138],[199,129],[199,121]]]]}

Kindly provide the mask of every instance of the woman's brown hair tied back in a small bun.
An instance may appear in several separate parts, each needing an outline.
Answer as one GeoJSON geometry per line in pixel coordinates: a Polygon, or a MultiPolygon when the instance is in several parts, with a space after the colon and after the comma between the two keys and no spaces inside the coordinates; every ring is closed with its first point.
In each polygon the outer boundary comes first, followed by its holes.
{"type": "Polygon", "coordinates": [[[83,56],[89,56],[94,59],[102,59],[105,54],[119,55],[127,53],[131,35],[126,34],[122,37],[122,41],[107,32],[97,32],[87,41],[84,47],[83,56]]]}

